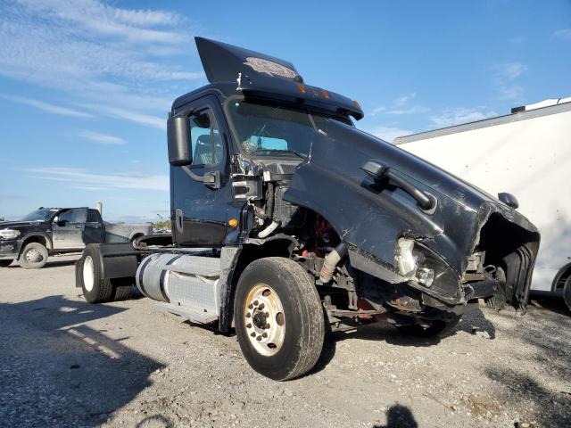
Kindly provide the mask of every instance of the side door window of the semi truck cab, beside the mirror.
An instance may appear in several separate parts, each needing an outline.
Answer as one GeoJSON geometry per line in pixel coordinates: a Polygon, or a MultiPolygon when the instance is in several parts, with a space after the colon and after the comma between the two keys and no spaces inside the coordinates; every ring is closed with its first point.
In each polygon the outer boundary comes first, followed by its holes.
{"type": "Polygon", "coordinates": [[[215,166],[220,163],[224,149],[219,127],[211,109],[204,109],[190,116],[190,136],[194,166],[215,166]]]}

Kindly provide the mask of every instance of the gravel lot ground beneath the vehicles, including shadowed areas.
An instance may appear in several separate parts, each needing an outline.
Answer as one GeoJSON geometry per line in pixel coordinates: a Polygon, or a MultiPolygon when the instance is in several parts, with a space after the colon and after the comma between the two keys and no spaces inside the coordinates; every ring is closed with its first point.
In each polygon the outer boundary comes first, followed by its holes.
{"type": "Polygon", "coordinates": [[[483,309],[441,341],[337,334],[310,375],[276,383],[235,337],[151,300],[88,304],[75,259],[0,270],[4,426],[571,426],[563,307],[483,309]]]}

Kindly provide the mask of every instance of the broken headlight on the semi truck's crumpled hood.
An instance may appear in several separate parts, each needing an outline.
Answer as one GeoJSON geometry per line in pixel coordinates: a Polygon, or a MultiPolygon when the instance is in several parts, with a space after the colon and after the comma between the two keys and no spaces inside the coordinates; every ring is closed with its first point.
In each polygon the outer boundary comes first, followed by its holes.
{"type": "Polygon", "coordinates": [[[446,262],[434,251],[413,239],[397,241],[394,260],[401,276],[426,288],[456,292],[458,280],[446,262]]]}

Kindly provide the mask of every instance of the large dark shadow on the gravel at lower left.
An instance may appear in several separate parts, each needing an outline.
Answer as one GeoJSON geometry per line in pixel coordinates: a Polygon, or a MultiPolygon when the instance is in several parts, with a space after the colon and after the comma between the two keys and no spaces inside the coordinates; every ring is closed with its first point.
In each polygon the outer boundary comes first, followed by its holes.
{"type": "Polygon", "coordinates": [[[97,426],[144,390],[163,366],[85,325],[123,310],[63,296],[0,304],[4,426],[97,426]]]}

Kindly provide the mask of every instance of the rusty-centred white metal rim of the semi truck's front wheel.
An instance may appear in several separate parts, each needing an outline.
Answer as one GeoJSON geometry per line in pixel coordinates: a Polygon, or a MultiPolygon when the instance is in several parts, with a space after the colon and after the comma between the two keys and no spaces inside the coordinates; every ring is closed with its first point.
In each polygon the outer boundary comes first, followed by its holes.
{"type": "Polygon", "coordinates": [[[252,347],[266,357],[277,353],[285,339],[285,313],[277,292],[256,284],[244,305],[244,325],[252,347]]]}

